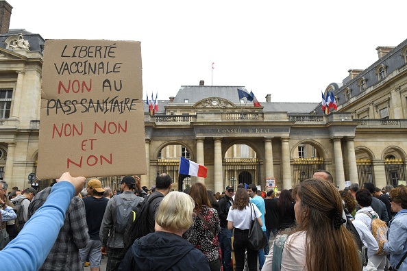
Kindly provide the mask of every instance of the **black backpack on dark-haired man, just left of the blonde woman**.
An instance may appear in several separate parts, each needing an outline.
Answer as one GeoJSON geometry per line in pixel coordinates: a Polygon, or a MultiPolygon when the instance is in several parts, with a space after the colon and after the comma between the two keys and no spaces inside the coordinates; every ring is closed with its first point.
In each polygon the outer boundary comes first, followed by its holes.
{"type": "Polygon", "coordinates": [[[137,238],[143,237],[150,233],[149,231],[149,203],[155,198],[164,197],[163,194],[158,193],[153,196],[149,195],[145,201],[138,203],[137,207],[133,209],[132,214],[127,221],[125,233],[123,234],[123,243],[125,250],[128,250],[137,238]]]}

